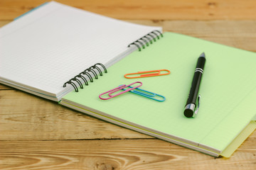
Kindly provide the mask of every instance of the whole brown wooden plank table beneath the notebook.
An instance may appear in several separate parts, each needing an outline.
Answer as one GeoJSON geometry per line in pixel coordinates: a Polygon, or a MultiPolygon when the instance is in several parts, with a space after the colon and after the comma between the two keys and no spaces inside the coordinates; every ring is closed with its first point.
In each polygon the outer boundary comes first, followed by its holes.
{"type": "MultiPolygon", "coordinates": [[[[0,26],[44,2],[0,0],[0,26]]],[[[255,0],[59,2],[256,52],[255,0]]],[[[4,85],[0,109],[0,169],[256,169],[256,132],[216,159],[4,85]]]]}

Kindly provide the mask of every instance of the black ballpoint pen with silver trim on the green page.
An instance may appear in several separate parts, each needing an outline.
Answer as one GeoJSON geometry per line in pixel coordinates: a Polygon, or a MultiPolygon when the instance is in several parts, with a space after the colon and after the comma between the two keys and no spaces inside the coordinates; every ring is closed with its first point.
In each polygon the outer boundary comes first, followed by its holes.
{"type": "Polygon", "coordinates": [[[200,103],[200,95],[198,96],[199,86],[201,83],[202,75],[203,75],[203,67],[206,63],[206,55],[203,52],[198,57],[198,62],[196,64],[196,70],[193,75],[193,80],[191,84],[191,89],[188,94],[188,101],[186,102],[184,115],[187,118],[192,118],[198,113],[199,103],[200,103]],[[197,108],[196,108],[197,106],[197,108]]]}

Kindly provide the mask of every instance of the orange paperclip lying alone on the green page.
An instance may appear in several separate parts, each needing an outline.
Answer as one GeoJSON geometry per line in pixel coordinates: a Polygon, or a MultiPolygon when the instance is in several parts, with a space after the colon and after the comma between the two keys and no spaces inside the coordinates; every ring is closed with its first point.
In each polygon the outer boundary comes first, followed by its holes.
{"type": "Polygon", "coordinates": [[[134,79],[134,78],[142,78],[142,77],[154,77],[154,76],[163,76],[170,74],[171,72],[168,69],[157,69],[157,70],[151,70],[151,71],[144,71],[144,72],[137,72],[137,73],[128,73],[125,74],[124,77],[127,79],[134,79]],[[166,72],[166,73],[161,73],[166,72]],[[129,75],[139,74],[137,77],[127,77],[129,75]]]}

